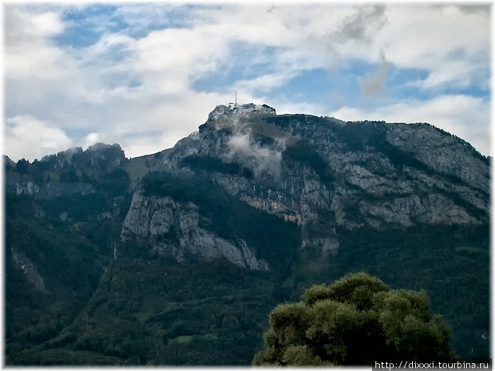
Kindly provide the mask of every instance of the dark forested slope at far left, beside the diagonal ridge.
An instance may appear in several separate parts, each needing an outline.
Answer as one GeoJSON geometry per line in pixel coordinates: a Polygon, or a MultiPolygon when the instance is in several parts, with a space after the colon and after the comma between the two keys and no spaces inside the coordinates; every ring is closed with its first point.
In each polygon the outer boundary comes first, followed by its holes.
{"type": "MultiPolygon", "coordinates": [[[[57,158],[64,155],[33,162],[23,177],[50,182],[45,171],[57,158]]],[[[129,177],[112,168],[90,179],[72,165],[55,177],[94,187],[52,198],[6,192],[6,363],[115,364],[115,358],[61,349],[74,343],[75,334],[64,330],[95,292],[120,239],[131,200],[129,177]]]]}

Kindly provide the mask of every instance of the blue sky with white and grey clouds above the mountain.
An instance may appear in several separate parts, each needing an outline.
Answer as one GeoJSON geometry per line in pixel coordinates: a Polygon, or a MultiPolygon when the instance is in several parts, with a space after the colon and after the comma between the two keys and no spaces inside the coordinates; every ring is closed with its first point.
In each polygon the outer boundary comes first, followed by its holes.
{"type": "Polygon", "coordinates": [[[4,2],[4,153],[172,147],[216,105],[429,122],[484,155],[490,7],[4,2]]]}

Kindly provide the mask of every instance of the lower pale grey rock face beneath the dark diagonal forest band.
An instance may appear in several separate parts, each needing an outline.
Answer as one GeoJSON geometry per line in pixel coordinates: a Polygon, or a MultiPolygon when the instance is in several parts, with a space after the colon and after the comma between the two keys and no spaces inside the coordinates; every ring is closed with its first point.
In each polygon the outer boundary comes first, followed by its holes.
{"type": "MultiPolygon", "coordinates": [[[[146,243],[153,252],[177,261],[190,253],[205,259],[225,258],[248,269],[269,270],[267,262],[257,259],[245,241],[228,241],[200,227],[202,218],[192,202],[146,196],[142,189],[136,189],[122,225],[122,241],[146,243]]],[[[118,258],[118,252],[116,255],[118,258]]]]}

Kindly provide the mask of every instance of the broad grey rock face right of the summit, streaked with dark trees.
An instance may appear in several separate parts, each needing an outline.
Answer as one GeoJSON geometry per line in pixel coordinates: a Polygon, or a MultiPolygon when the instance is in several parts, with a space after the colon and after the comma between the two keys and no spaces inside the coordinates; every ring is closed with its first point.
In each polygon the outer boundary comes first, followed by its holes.
{"type": "MultiPolygon", "coordinates": [[[[352,224],[353,221],[344,217],[342,206],[346,203],[359,204],[364,216],[370,207],[374,210],[376,204],[384,212],[385,208],[390,208],[392,213],[404,213],[403,202],[390,203],[390,200],[404,199],[411,194],[421,198],[422,208],[426,211],[421,215],[428,216],[417,218],[419,213],[416,213],[409,217],[421,223],[434,223],[434,220],[447,224],[472,223],[474,218],[462,212],[454,211],[451,213],[453,218],[444,218],[445,207],[438,209],[438,202],[433,201],[452,199],[453,194],[458,194],[482,213],[488,212],[487,163],[480,160],[472,149],[467,151],[465,143],[432,126],[343,123],[317,117],[290,117],[279,123],[286,125],[289,134],[305,140],[332,170],[334,196],[344,201],[332,205],[333,211],[342,216],[337,220],[340,225],[352,224]],[[415,141],[409,138],[402,146],[393,140],[402,131],[415,131],[419,138],[415,141]],[[450,144],[439,147],[438,143],[443,141],[450,144]],[[416,142],[420,144],[416,146],[416,142]],[[438,148],[442,148],[441,151],[438,148]],[[455,167],[452,164],[446,167],[448,158],[457,158],[455,167]],[[431,194],[437,196],[432,199],[429,197],[431,194]]],[[[447,201],[447,204],[453,206],[453,201],[447,201]]],[[[409,224],[404,218],[400,220],[409,224]]]]}

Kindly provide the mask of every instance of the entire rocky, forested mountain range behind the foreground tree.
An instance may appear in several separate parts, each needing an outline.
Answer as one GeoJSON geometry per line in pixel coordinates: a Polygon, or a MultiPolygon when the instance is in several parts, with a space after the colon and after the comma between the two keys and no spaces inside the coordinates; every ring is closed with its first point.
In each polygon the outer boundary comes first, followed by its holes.
{"type": "Polygon", "coordinates": [[[219,105],[173,148],[6,167],[6,363],[247,365],[267,314],[367,271],[489,355],[489,158],[430,124],[219,105]]]}

